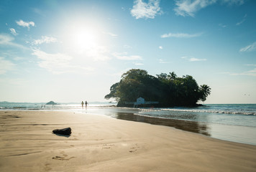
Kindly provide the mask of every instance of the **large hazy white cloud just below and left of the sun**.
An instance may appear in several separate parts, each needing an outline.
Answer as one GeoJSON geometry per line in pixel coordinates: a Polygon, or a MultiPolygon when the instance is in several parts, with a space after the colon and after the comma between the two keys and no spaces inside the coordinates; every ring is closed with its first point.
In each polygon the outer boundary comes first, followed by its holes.
{"type": "Polygon", "coordinates": [[[68,72],[90,72],[93,70],[92,67],[82,67],[80,65],[72,65],[71,61],[73,57],[67,54],[48,54],[42,52],[39,49],[33,49],[33,55],[37,56],[41,61],[38,63],[40,67],[45,68],[53,74],[63,74],[68,72]]]}

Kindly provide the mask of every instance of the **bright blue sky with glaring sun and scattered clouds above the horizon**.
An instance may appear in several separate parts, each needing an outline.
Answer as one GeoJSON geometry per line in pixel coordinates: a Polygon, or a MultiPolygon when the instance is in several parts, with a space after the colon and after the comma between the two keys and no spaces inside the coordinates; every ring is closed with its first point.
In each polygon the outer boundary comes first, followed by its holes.
{"type": "Polygon", "coordinates": [[[255,0],[1,0],[0,101],[107,101],[131,69],[256,103],[255,0]]]}

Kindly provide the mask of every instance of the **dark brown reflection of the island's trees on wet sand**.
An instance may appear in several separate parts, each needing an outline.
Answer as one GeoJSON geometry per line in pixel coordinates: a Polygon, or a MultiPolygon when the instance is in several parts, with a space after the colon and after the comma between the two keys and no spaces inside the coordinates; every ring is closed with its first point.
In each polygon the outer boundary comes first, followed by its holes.
{"type": "Polygon", "coordinates": [[[211,136],[209,133],[209,127],[205,123],[198,123],[194,121],[186,120],[173,120],[164,118],[153,118],[141,115],[134,115],[133,113],[115,113],[114,118],[120,120],[132,120],[142,123],[150,123],[153,125],[165,125],[168,127],[177,128],[180,130],[186,130],[193,133],[199,133],[207,136],[211,136]]]}

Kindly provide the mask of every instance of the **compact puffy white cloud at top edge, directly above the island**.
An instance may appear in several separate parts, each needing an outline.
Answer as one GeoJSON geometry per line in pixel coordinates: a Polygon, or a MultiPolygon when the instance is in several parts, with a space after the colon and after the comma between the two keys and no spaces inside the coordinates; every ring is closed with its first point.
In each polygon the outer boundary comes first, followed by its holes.
{"type": "Polygon", "coordinates": [[[136,19],[154,19],[157,14],[161,14],[159,4],[160,0],[149,0],[148,3],[145,3],[142,0],[135,0],[131,14],[136,19]]]}

